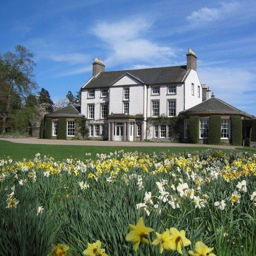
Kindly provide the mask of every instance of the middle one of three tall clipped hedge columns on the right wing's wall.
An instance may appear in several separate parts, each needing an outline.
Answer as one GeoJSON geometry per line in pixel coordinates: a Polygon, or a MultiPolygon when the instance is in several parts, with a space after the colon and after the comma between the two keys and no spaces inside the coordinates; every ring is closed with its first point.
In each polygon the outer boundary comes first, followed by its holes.
{"type": "Polygon", "coordinates": [[[209,118],[208,144],[219,145],[221,137],[221,116],[215,115],[209,118]]]}

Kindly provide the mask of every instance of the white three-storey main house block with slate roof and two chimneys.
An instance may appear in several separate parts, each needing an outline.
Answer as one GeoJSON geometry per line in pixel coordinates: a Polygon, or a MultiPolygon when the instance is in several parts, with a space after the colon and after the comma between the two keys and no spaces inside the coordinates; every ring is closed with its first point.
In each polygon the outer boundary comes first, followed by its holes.
{"type": "Polygon", "coordinates": [[[146,122],[162,114],[177,116],[203,101],[196,59],[189,49],[186,66],[105,72],[103,61],[95,58],[92,77],[81,90],[81,114],[89,120],[89,137],[170,140],[169,125],[146,129],[146,122]]]}

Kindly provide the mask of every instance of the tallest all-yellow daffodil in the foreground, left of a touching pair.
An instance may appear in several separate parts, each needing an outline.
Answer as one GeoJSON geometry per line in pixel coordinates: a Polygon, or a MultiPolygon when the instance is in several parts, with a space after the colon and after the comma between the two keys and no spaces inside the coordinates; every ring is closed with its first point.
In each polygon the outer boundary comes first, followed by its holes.
{"type": "Polygon", "coordinates": [[[149,233],[154,231],[153,228],[148,228],[145,226],[143,217],[140,217],[136,226],[129,224],[128,228],[131,230],[125,237],[127,242],[133,243],[133,249],[136,252],[138,250],[140,242],[148,244],[146,237],[149,236],[149,233]]]}

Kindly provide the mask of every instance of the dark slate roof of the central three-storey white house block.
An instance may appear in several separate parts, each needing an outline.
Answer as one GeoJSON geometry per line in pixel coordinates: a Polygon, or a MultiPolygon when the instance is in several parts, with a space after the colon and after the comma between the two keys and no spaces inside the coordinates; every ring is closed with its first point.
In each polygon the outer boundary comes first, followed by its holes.
{"type": "Polygon", "coordinates": [[[188,71],[187,66],[174,66],[100,72],[97,76],[90,78],[82,88],[108,87],[126,73],[146,84],[182,83],[188,71]]]}

